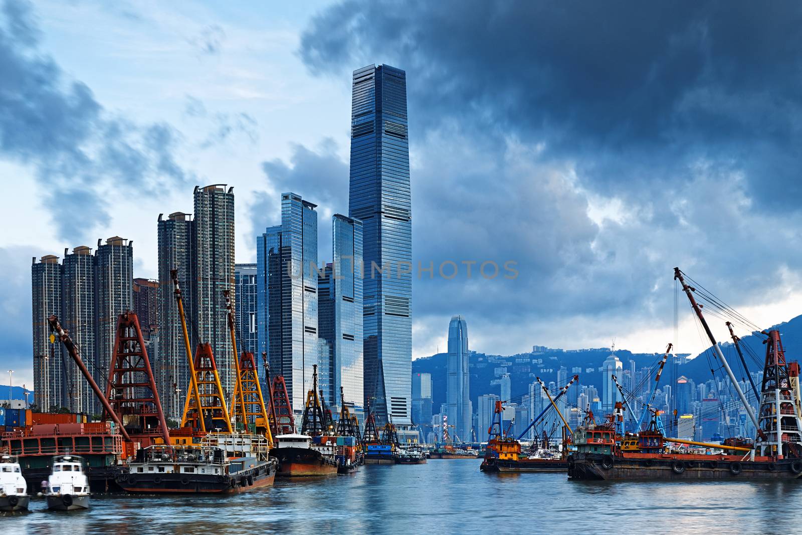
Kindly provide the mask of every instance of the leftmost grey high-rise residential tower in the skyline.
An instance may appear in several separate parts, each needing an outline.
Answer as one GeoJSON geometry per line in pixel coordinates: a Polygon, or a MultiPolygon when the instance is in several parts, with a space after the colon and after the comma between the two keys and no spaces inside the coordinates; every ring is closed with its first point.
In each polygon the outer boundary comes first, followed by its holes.
{"type": "Polygon", "coordinates": [[[33,312],[34,391],[36,404],[42,411],[51,407],[65,407],[63,397],[65,366],[62,361],[61,343],[50,341],[50,325],[47,318],[61,314],[61,264],[59,257],[43,256],[39,262],[34,257],[30,267],[31,305],[33,312]]]}

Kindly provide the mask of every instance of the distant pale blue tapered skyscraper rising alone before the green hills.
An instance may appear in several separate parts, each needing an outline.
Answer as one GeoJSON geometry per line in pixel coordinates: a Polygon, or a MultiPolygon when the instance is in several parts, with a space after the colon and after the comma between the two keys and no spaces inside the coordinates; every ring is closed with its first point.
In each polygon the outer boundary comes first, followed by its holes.
{"type": "Polygon", "coordinates": [[[462,440],[469,440],[471,435],[468,356],[468,323],[462,316],[452,316],[448,324],[446,404],[448,421],[455,426],[454,431],[462,440]]]}

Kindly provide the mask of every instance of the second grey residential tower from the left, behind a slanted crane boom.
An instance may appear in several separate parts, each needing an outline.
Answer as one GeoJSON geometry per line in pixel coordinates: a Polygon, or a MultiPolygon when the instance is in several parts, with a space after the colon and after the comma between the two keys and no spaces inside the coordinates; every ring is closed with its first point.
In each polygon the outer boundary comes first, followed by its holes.
{"type": "MultiPolygon", "coordinates": [[[[78,347],[83,363],[99,378],[95,345],[95,265],[91,247],[81,245],[68,253],[62,264],[62,326],[78,347]]],[[[66,360],[66,359],[65,359],[66,360]]],[[[95,413],[95,394],[75,363],[67,361],[64,377],[66,407],[74,412],[95,413]]]]}

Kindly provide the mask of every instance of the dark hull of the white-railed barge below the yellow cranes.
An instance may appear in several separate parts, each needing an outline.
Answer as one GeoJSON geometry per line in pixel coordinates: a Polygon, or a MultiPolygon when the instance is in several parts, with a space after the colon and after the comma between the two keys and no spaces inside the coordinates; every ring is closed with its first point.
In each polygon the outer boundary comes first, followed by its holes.
{"type": "Polygon", "coordinates": [[[185,473],[134,473],[119,476],[117,484],[134,494],[240,494],[256,488],[273,486],[275,462],[230,475],[185,473]]]}

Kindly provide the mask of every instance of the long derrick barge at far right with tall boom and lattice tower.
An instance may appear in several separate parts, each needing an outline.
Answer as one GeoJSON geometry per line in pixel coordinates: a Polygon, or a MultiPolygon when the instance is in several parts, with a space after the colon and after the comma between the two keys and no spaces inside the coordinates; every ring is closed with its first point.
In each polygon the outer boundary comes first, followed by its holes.
{"type": "MultiPolygon", "coordinates": [[[[691,301],[691,307],[711,339],[732,387],[755,424],[757,437],[754,446],[744,447],[727,442],[707,444],[668,438],[658,422],[658,411],[653,411],[649,427],[639,431],[636,440],[617,432],[614,418],[598,425],[591,418],[574,433],[573,443],[577,452],[568,459],[569,477],[575,480],[797,479],[802,474],[799,363],[787,363],[778,330],[761,332],[767,337],[764,340],[766,358],[759,409],[755,415],[703,317],[702,307],[694,298],[695,288],[685,282],[678,268],[674,269],[674,278],[691,301]],[[737,453],[700,455],[672,452],[666,448],[666,444],[672,443],[737,453]]],[[[756,391],[757,388],[754,388],[756,391]]]]}

